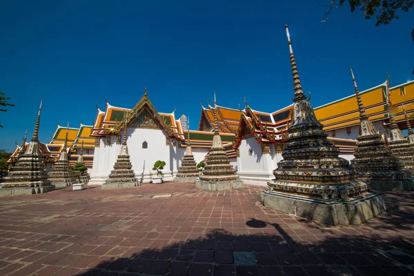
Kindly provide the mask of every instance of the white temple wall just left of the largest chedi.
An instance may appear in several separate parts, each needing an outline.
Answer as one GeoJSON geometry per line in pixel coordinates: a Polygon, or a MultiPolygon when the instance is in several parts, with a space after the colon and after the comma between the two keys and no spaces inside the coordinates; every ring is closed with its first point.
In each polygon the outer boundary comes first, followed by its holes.
{"type": "Polygon", "coordinates": [[[240,157],[237,158],[237,174],[244,184],[266,186],[267,181],[272,179],[272,148],[274,147],[270,146],[270,154],[263,155],[262,147],[254,137],[242,140],[239,146],[240,157]]]}

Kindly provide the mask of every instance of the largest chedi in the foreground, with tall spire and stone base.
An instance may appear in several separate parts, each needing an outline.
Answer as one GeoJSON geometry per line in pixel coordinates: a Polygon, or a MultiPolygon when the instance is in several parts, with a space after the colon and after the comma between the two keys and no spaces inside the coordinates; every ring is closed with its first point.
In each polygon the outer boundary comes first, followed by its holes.
{"type": "Polygon", "coordinates": [[[292,123],[284,159],[273,170],[275,179],[263,191],[262,204],[324,224],[362,224],[384,212],[384,197],[368,192],[368,185],[357,180],[357,172],[327,139],[302,91],[288,26],[286,35],[295,91],[292,123]]]}

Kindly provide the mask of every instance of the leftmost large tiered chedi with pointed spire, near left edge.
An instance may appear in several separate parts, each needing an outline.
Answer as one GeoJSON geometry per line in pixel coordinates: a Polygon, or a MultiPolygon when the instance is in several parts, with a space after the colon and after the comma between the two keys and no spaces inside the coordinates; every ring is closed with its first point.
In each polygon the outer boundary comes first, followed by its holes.
{"type": "Polygon", "coordinates": [[[0,195],[32,195],[55,189],[55,186],[50,185],[48,180],[38,137],[42,103],[43,99],[41,99],[37,113],[32,140],[24,152],[21,151],[17,161],[10,168],[8,176],[4,177],[5,182],[0,186],[0,195]]]}

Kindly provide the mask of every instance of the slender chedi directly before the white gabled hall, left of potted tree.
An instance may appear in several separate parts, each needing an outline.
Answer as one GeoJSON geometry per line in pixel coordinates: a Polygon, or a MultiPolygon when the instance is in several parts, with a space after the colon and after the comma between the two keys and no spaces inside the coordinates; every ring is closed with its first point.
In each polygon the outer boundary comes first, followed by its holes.
{"type": "Polygon", "coordinates": [[[108,175],[108,179],[102,185],[102,188],[126,188],[139,186],[139,181],[135,178],[135,172],[132,170],[132,164],[126,145],[126,135],[128,129],[128,114],[125,115],[124,121],[124,138],[122,140],[121,152],[117,157],[114,169],[108,175]]]}

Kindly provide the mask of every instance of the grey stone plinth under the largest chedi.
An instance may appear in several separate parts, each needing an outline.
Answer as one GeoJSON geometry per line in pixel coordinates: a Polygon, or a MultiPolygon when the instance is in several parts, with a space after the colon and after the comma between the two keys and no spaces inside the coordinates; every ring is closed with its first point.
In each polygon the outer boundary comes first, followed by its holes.
{"type": "Polygon", "coordinates": [[[334,226],[363,224],[386,211],[384,195],[379,193],[341,202],[264,190],[260,198],[265,207],[334,226]]]}

